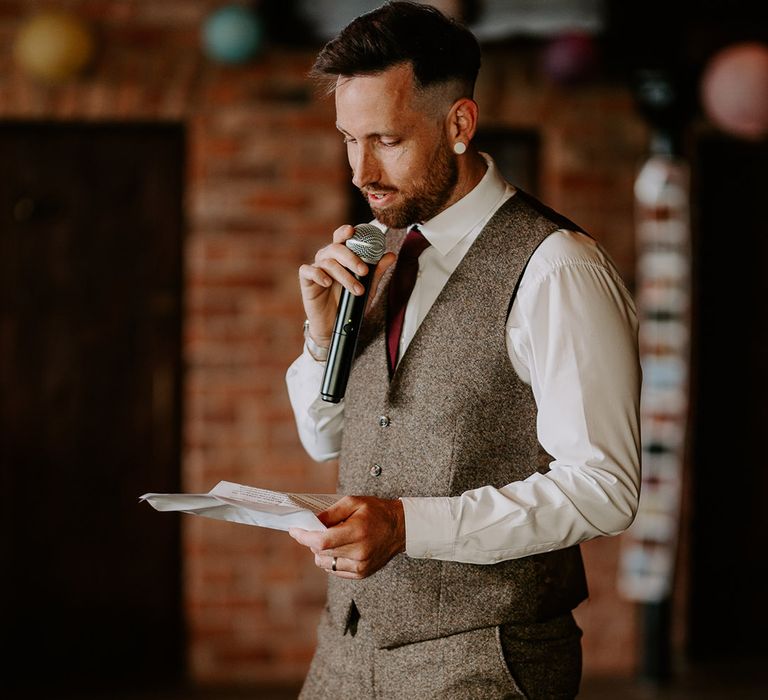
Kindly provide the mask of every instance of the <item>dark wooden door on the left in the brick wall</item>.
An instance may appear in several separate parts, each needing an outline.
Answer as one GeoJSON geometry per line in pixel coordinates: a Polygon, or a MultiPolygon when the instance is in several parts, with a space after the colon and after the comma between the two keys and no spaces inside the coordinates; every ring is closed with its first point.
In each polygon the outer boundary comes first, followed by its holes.
{"type": "Polygon", "coordinates": [[[184,133],[0,123],[3,684],[178,676],[184,133]],[[28,669],[35,669],[31,674],[28,669]]]}

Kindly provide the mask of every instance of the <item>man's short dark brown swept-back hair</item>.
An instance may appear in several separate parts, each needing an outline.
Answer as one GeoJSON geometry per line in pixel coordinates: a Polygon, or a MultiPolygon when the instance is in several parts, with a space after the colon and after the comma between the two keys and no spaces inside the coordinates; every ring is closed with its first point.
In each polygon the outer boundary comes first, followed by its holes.
{"type": "MultiPolygon", "coordinates": [[[[352,20],[320,51],[310,76],[328,84],[340,76],[372,75],[410,62],[416,85],[459,80],[472,96],[480,46],[466,27],[429,5],[387,2],[352,20]]],[[[329,85],[333,89],[333,85],[329,85]]]]}

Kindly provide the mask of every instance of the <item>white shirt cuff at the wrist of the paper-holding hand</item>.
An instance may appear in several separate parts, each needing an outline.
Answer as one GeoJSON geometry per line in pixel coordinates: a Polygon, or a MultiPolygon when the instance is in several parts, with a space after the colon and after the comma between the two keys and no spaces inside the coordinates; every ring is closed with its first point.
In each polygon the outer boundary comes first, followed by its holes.
{"type": "Polygon", "coordinates": [[[452,559],[456,549],[458,498],[406,498],[405,553],[414,559],[452,559]]]}

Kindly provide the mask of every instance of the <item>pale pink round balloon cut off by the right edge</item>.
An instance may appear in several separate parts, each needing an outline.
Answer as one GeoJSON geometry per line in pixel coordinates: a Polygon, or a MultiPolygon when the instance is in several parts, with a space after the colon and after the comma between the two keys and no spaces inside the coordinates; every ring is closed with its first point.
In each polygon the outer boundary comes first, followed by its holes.
{"type": "Polygon", "coordinates": [[[757,139],[768,133],[768,46],[733,44],[716,53],[701,79],[704,112],[723,131],[757,139]]]}

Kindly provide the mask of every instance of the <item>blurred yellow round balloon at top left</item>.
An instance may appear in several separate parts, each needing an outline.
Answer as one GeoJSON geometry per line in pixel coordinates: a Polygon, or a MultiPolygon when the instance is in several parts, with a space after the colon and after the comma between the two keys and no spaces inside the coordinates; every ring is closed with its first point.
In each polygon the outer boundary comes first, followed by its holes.
{"type": "Polygon", "coordinates": [[[27,20],[13,47],[16,62],[29,75],[61,82],[82,71],[93,57],[88,25],[69,12],[45,11],[27,20]]]}

